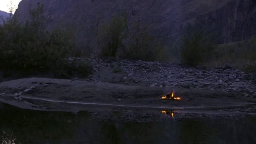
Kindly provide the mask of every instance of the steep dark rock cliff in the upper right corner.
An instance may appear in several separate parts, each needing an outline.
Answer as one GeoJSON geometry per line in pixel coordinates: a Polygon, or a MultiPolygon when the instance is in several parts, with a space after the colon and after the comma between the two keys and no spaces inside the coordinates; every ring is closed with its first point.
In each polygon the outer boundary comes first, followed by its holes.
{"type": "Polygon", "coordinates": [[[216,32],[220,43],[248,40],[256,35],[256,0],[231,0],[197,16],[196,21],[216,32]]]}

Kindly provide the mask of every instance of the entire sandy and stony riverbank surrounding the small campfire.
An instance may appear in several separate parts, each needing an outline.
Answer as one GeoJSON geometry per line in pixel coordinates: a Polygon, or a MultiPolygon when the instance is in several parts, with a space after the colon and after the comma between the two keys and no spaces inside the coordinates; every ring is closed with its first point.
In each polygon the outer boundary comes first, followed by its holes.
{"type": "Polygon", "coordinates": [[[79,60],[91,62],[93,74],[88,78],[32,77],[5,81],[0,83],[0,101],[43,111],[91,111],[93,115],[117,111],[125,121],[132,120],[126,114],[136,113],[138,109],[141,114],[137,119],[145,113],[159,115],[165,110],[175,112],[176,118],[191,115],[237,118],[256,114],[253,75],[229,65],[192,68],[166,62],[79,60]],[[168,91],[175,91],[182,100],[160,99],[168,91]]]}

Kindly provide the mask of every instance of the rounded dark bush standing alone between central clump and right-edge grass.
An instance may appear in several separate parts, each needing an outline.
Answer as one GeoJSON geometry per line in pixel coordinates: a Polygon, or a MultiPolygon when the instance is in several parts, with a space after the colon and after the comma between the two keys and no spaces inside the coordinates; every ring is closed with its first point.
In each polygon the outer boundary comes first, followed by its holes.
{"type": "Polygon", "coordinates": [[[181,61],[194,67],[201,64],[213,48],[214,42],[209,34],[188,26],[181,38],[181,61]]]}

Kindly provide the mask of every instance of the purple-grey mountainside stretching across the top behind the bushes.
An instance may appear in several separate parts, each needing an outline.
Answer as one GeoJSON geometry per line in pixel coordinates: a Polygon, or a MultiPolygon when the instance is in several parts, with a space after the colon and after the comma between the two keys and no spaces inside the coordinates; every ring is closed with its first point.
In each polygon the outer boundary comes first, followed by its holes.
{"type": "Polygon", "coordinates": [[[186,23],[215,32],[219,43],[246,40],[256,35],[256,0],[22,0],[15,13],[21,20],[29,9],[43,2],[51,10],[48,27],[72,25],[79,32],[116,13],[128,14],[129,22],[151,24],[166,42],[181,34],[186,23]]]}

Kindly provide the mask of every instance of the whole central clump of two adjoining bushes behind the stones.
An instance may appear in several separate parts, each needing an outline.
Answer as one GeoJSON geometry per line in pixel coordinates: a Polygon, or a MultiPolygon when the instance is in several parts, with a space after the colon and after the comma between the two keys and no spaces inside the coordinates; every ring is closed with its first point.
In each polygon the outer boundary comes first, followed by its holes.
{"type": "MultiPolygon", "coordinates": [[[[96,26],[99,24],[96,24],[96,26]]],[[[105,22],[96,32],[96,40],[102,57],[122,57],[125,59],[155,61],[163,60],[165,48],[150,34],[149,26],[142,26],[141,21],[133,22],[128,27],[126,15],[115,15],[105,22]]]]}

